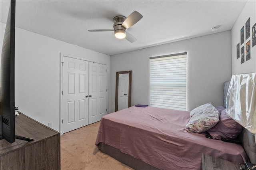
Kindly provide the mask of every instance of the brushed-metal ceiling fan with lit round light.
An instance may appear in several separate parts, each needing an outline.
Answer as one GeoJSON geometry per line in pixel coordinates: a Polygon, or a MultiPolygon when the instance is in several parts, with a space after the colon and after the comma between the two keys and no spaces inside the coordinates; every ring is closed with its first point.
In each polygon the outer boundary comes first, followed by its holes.
{"type": "Polygon", "coordinates": [[[102,32],[102,31],[114,31],[116,38],[122,39],[125,38],[129,42],[133,43],[137,39],[126,32],[128,28],[136,24],[143,16],[137,12],[134,11],[132,14],[130,14],[127,18],[125,16],[116,16],[114,21],[114,30],[88,30],[89,32],[102,32]]]}

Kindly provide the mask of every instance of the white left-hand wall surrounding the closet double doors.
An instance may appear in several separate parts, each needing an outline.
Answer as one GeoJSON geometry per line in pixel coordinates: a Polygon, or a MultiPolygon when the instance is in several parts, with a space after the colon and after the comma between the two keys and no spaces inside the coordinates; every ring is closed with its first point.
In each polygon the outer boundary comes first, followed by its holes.
{"type": "MultiPolygon", "coordinates": [[[[1,23],[1,49],[5,24],[1,23]]],[[[60,131],[60,53],[107,65],[110,110],[110,56],[16,28],[15,104],[32,119],[60,131]]],[[[85,40],[86,41],[86,40],[85,40]]]]}

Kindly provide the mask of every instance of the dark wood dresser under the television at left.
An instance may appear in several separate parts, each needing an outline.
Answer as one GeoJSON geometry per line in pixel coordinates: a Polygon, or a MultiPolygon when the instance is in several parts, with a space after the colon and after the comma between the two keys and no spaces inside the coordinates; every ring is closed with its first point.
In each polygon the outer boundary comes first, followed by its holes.
{"type": "MultiPolygon", "coordinates": [[[[20,113],[20,112],[19,112],[20,113]]],[[[26,115],[15,117],[16,135],[33,138],[0,141],[1,170],[60,170],[60,133],[26,115]]]]}

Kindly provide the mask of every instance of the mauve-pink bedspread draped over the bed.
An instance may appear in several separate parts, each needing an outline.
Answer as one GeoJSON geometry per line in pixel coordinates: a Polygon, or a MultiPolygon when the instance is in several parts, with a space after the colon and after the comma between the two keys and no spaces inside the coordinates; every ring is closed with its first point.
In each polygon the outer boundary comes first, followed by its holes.
{"type": "Polygon", "coordinates": [[[202,154],[243,164],[242,146],[187,132],[189,119],[187,111],[130,107],[102,117],[95,144],[104,142],[163,170],[200,170],[202,154]]]}

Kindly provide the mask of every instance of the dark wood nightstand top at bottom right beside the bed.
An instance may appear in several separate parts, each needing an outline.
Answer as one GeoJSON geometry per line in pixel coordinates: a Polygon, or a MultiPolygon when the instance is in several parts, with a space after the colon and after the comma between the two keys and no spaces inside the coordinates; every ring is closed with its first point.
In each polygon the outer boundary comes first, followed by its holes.
{"type": "Polygon", "coordinates": [[[234,164],[224,159],[209,155],[202,155],[203,170],[240,170],[239,164],[234,164]]]}

